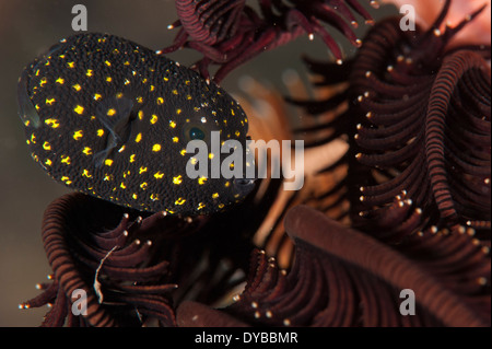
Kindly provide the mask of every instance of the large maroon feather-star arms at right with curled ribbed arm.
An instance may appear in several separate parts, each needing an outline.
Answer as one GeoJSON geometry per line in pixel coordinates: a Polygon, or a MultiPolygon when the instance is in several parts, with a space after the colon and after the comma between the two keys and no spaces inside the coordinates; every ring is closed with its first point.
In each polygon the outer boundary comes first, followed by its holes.
{"type": "Polygon", "coordinates": [[[352,225],[386,241],[465,226],[490,240],[490,50],[446,46],[484,7],[443,32],[449,4],[429,31],[401,31],[399,19],[376,24],[350,73],[331,77],[333,65],[308,61],[321,84],[349,88],[325,101],[294,101],[308,114],[349,101],[335,120],[320,117],[301,131],[332,130],[313,146],[349,137],[343,186],[352,225]]]}

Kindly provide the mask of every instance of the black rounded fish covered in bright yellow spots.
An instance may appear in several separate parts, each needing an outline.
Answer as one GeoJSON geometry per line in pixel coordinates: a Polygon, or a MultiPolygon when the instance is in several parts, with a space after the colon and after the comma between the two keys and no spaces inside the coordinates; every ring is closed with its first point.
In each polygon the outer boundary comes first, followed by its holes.
{"type": "MultiPolygon", "coordinates": [[[[253,179],[187,176],[191,140],[246,148],[248,119],[213,82],[107,34],[61,39],[17,85],[32,158],[55,181],[140,211],[209,214],[241,201],[253,179]]],[[[220,154],[209,153],[209,159],[220,154]]]]}

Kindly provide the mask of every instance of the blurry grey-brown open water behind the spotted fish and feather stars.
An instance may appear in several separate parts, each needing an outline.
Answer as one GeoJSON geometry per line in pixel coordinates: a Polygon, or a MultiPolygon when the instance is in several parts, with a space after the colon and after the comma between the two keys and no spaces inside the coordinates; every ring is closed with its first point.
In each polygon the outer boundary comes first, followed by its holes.
{"type": "MultiPolygon", "coordinates": [[[[173,0],[0,0],[0,326],[36,326],[47,312],[19,310],[17,304],[37,295],[35,284],[50,272],[40,240],[42,217],[46,206],[69,189],[51,181],[30,156],[16,112],[16,82],[35,56],[74,34],[71,9],[77,3],[87,9],[90,32],[119,35],[152,49],[169,45],[176,33],[166,30],[176,19],[173,0]]],[[[375,18],[388,13],[396,10],[380,9],[375,18]]],[[[366,30],[361,25],[359,32],[366,30]]],[[[350,47],[345,51],[353,54],[350,47]]],[[[241,78],[250,75],[282,91],[282,73],[304,70],[303,53],[329,57],[319,38],[302,37],[241,67],[222,85],[238,93],[241,78]]],[[[185,49],[171,58],[189,65],[199,55],[185,49]]]]}

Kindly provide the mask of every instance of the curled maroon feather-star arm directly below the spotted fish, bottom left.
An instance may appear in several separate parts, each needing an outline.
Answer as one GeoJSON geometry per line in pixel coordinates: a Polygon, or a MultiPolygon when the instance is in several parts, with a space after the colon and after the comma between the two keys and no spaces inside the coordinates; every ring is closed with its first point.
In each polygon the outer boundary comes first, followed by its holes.
{"type": "MultiPolygon", "coordinates": [[[[43,293],[20,307],[50,305],[43,326],[141,326],[152,318],[174,326],[169,294],[177,286],[145,239],[164,226],[165,214],[133,216],[82,194],[55,200],[43,221],[52,282],[38,284],[43,293]]],[[[179,224],[167,221],[167,232],[179,224]]]]}

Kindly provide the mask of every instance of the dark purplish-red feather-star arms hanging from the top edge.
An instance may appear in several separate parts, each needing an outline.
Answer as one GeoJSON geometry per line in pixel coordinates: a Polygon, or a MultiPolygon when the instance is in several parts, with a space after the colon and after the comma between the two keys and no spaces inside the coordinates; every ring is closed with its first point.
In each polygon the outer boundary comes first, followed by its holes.
{"type": "MultiPolygon", "coordinates": [[[[371,1],[371,3],[374,3],[371,1]]],[[[202,75],[209,77],[212,65],[220,66],[214,74],[219,82],[229,72],[265,50],[284,45],[302,34],[319,35],[339,63],[343,54],[324,24],[341,32],[354,46],[360,46],[353,28],[358,21],[353,12],[372,23],[368,12],[356,0],[291,1],[260,0],[258,14],[241,1],[177,0],[179,20],[169,28],[181,26],[173,45],[163,54],[181,47],[194,48],[203,58],[198,62],[202,75]]]]}

